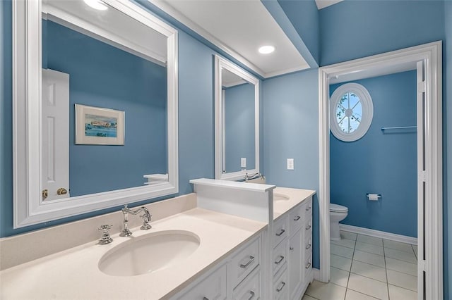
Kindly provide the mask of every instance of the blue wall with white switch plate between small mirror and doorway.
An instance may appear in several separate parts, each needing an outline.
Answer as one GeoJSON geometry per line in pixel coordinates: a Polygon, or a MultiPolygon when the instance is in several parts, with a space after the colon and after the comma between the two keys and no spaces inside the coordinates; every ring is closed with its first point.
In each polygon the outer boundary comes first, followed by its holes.
{"type": "MultiPolygon", "coordinates": [[[[318,70],[263,81],[263,164],[266,182],[319,191],[318,70]],[[287,170],[295,158],[295,170],[287,170]]],[[[313,256],[319,268],[319,200],[314,196],[313,256]]]]}

